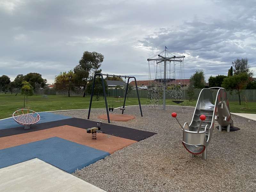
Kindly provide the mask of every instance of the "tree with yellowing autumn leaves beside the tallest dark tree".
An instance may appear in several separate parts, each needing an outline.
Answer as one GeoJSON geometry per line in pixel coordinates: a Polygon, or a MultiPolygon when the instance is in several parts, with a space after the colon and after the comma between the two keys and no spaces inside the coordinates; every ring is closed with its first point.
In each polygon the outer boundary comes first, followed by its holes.
{"type": "Polygon", "coordinates": [[[57,91],[67,91],[68,97],[70,97],[70,91],[75,91],[74,84],[74,72],[72,70],[60,73],[60,75],[55,76],[55,86],[57,91]]]}

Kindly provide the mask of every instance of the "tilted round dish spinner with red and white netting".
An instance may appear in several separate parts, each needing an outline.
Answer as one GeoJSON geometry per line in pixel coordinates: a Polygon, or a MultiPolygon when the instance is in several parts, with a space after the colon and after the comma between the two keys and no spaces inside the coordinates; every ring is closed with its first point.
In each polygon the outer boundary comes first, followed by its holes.
{"type": "Polygon", "coordinates": [[[40,121],[40,115],[29,109],[17,110],[12,114],[12,117],[18,124],[24,125],[24,129],[29,129],[30,125],[40,121]]]}

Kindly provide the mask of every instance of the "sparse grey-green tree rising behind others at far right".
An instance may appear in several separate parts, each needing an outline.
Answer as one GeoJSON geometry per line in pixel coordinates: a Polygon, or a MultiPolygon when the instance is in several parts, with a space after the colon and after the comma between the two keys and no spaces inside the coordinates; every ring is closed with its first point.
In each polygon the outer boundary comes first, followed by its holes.
{"type": "Polygon", "coordinates": [[[232,62],[232,65],[235,68],[234,69],[235,75],[238,75],[240,73],[247,73],[248,76],[250,77],[253,76],[253,72],[250,70],[250,65],[248,65],[247,58],[236,59],[234,62],[232,62]]]}

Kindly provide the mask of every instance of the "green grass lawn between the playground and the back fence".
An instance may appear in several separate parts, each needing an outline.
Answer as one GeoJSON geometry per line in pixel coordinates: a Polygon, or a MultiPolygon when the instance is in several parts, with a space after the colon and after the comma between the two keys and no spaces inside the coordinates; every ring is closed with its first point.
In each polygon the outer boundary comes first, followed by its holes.
{"type": "MultiPolygon", "coordinates": [[[[48,98],[42,98],[42,95],[33,95],[28,96],[28,104],[25,103],[25,107],[32,109],[36,112],[40,111],[55,111],[55,110],[65,110],[65,109],[85,109],[89,108],[90,97],[87,96],[83,98],[82,96],[63,96],[63,95],[48,95],[48,98]]],[[[0,94],[0,119],[11,117],[12,113],[20,108],[23,108],[23,98],[24,96],[18,94],[0,94]]],[[[146,98],[140,98],[142,105],[146,104],[146,98]]],[[[108,104],[110,107],[117,108],[123,104],[124,98],[108,98],[108,104]]],[[[128,98],[125,105],[138,105],[137,98],[128,98]]],[[[177,105],[171,100],[166,100],[167,105],[177,105]]],[[[256,102],[248,102],[249,109],[244,109],[244,105],[239,105],[238,102],[230,101],[230,110],[234,113],[255,113],[256,112],[256,102]]],[[[178,104],[179,105],[179,104],[178,104]]],[[[196,106],[196,101],[188,102],[186,101],[187,106],[196,106]]],[[[104,108],[105,101],[101,97],[99,101],[93,98],[92,108],[104,108]]]]}

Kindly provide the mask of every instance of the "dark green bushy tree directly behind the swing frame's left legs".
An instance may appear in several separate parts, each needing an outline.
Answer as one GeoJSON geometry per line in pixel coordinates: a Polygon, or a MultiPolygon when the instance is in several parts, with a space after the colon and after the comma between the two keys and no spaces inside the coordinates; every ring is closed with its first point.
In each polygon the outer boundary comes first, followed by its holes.
{"type": "MultiPolygon", "coordinates": [[[[92,94],[92,84],[93,84],[93,79],[89,81],[87,84],[87,91],[88,93],[92,94]]],[[[104,86],[105,86],[105,92],[108,92],[108,84],[106,79],[104,79],[104,86]]],[[[94,85],[94,90],[93,90],[93,95],[96,95],[96,100],[98,101],[100,98],[100,94],[103,94],[103,87],[102,87],[102,82],[101,82],[101,77],[96,77],[95,78],[95,85],[94,85]]]]}

